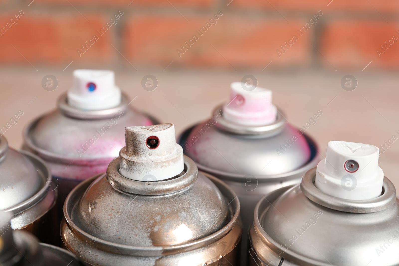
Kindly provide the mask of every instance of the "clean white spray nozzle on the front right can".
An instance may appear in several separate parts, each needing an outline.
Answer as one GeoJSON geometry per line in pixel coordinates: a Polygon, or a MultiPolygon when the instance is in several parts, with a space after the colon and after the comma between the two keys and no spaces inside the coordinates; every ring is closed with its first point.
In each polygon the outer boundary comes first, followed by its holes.
{"type": "Polygon", "coordinates": [[[379,149],[369,144],[330,141],[326,159],[317,165],[315,186],[334,197],[352,200],[381,195],[384,173],[379,149]]]}

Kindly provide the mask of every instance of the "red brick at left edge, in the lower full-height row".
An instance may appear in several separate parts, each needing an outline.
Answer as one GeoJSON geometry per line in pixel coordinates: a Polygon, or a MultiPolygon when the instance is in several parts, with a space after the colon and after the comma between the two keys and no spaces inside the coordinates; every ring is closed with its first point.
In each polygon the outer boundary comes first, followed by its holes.
{"type": "MultiPolygon", "coordinates": [[[[5,26],[13,15],[3,15],[0,18],[0,26],[5,26]]],[[[0,37],[0,62],[29,64],[27,61],[30,61],[33,64],[69,63],[72,60],[108,61],[115,54],[111,46],[114,30],[112,27],[79,58],[77,49],[81,48],[85,41],[92,39],[93,35],[98,35],[96,30],[100,30],[107,23],[106,18],[89,14],[84,16],[85,18],[79,14],[76,16],[24,14],[18,20],[18,24],[0,37]]]]}

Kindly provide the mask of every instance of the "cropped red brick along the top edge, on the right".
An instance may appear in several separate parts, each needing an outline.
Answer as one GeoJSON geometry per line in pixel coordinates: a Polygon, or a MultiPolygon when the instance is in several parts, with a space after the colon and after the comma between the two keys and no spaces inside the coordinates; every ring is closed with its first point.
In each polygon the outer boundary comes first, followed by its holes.
{"type": "Polygon", "coordinates": [[[312,11],[317,10],[350,10],[350,11],[373,11],[376,12],[397,12],[399,10],[399,2],[397,0],[233,0],[229,5],[239,9],[263,8],[267,10],[279,11],[312,11]],[[327,6],[328,5],[328,6],[327,6]],[[374,9],[375,8],[375,9],[374,9]]]}

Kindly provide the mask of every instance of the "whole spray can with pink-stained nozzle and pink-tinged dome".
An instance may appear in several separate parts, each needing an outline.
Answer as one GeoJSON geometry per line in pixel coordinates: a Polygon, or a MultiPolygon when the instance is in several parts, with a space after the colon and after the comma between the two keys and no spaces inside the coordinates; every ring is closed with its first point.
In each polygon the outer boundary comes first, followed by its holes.
{"type": "Polygon", "coordinates": [[[299,183],[318,162],[316,143],[286,122],[272,104],[272,92],[239,82],[231,84],[229,102],[185,130],[178,142],[199,170],[222,179],[237,193],[244,224],[242,265],[256,203],[276,189],[299,183]]]}

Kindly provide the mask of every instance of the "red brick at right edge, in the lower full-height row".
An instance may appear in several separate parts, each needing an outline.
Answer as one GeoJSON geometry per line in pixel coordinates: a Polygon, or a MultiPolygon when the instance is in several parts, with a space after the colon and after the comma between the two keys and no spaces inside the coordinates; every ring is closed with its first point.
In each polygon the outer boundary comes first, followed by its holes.
{"type": "Polygon", "coordinates": [[[332,22],[324,30],[320,52],[334,67],[359,67],[361,70],[370,61],[373,61],[370,68],[399,67],[399,40],[380,56],[376,52],[393,35],[399,38],[396,30],[399,31],[399,24],[387,22],[332,22]]]}

